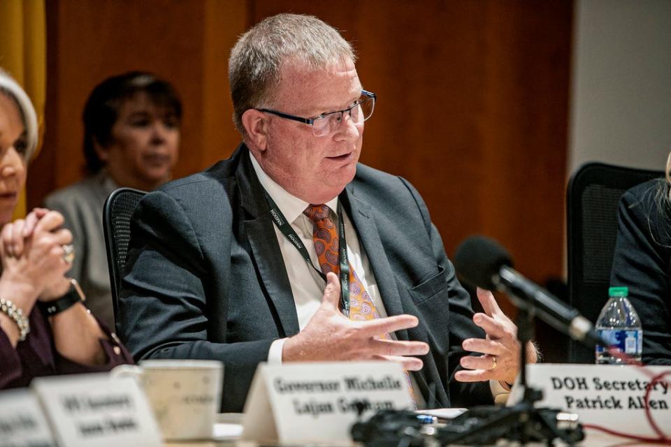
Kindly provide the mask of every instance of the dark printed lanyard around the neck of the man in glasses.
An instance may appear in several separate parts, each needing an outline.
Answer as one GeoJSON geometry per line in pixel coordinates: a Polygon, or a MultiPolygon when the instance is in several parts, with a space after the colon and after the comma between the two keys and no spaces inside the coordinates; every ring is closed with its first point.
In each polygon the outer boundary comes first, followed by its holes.
{"type": "MultiPolygon", "coordinates": [[[[270,217],[273,218],[273,222],[275,222],[277,228],[282,232],[284,237],[287,237],[291,244],[294,244],[294,247],[303,256],[305,262],[326,281],[326,275],[312,264],[308,250],[305,249],[305,245],[301,242],[301,238],[298,237],[294,228],[291,228],[291,225],[287,222],[287,218],[280,211],[280,207],[277,207],[277,204],[270,198],[270,194],[267,191],[264,191],[264,193],[266,193],[266,200],[268,200],[268,205],[270,206],[270,217]]],[[[340,200],[338,200],[338,263],[340,264],[340,310],[343,315],[349,318],[349,261],[347,261],[345,221],[342,219],[340,200]]]]}

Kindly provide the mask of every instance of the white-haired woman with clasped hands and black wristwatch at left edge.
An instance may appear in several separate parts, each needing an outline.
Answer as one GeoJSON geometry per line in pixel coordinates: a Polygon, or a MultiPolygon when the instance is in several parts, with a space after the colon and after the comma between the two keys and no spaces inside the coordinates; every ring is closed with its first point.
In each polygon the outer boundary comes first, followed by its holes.
{"type": "Polygon", "coordinates": [[[39,208],[10,223],[37,145],[28,96],[0,69],[0,389],[35,376],[106,371],[132,362],[99,325],[66,277],[72,234],[63,217],[39,208]]]}

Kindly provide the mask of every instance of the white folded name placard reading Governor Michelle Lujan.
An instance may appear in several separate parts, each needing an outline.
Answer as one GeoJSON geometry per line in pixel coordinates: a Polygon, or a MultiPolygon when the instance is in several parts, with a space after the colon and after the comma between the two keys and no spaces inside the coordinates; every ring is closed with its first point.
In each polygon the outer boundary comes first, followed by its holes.
{"type": "Polygon", "coordinates": [[[242,439],[306,443],[348,441],[358,417],[411,409],[407,376],[392,362],[259,365],[245,402],[242,439]]]}

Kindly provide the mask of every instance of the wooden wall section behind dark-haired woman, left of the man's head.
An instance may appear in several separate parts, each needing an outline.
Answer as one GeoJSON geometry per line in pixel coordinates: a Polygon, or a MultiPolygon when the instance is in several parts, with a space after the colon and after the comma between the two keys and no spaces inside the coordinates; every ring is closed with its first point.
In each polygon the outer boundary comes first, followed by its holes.
{"type": "Polygon", "coordinates": [[[82,177],[83,105],[98,82],[125,71],[156,73],[182,98],[175,177],[227,156],[238,136],[226,59],[246,17],[244,0],[47,2],[45,147],[31,166],[29,205],[82,177]]]}

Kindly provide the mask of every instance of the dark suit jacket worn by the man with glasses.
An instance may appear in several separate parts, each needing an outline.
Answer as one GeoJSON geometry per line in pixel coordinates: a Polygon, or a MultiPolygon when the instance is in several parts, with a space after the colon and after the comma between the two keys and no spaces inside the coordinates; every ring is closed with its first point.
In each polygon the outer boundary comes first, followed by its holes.
{"type": "MultiPolygon", "coordinates": [[[[427,342],[414,373],[439,406],[491,402],[488,383],[452,376],[461,342],[484,337],[419,193],[401,177],[359,164],[340,195],[366,251],[387,314],[419,326],[398,339],[427,342]],[[449,386],[445,384],[449,383],[449,386]]],[[[222,411],[242,411],[273,340],[298,332],[294,298],[263,189],[245,145],[203,173],[140,201],[131,224],[117,332],[135,358],[224,362],[222,411]]]]}

